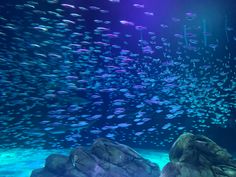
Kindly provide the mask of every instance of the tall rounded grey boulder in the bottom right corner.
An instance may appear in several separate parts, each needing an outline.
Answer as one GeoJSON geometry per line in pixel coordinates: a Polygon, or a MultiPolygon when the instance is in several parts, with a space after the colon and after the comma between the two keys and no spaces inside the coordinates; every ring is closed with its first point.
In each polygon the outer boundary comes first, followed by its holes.
{"type": "Polygon", "coordinates": [[[236,177],[232,156],[202,135],[181,135],[173,144],[169,158],[161,177],[236,177]]]}

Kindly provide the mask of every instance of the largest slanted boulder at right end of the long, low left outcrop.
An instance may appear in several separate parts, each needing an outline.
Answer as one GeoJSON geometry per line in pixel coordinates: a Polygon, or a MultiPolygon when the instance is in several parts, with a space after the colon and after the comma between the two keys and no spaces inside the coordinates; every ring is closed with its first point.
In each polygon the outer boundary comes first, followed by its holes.
{"type": "MultiPolygon", "coordinates": [[[[110,173],[119,167],[123,176],[152,177],[159,176],[160,169],[156,164],[143,159],[130,147],[106,139],[98,139],[92,147],[92,154],[99,159],[113,164],[110,173]]],[[[104,165],[101,164],[103,168],[104,165]]]]}

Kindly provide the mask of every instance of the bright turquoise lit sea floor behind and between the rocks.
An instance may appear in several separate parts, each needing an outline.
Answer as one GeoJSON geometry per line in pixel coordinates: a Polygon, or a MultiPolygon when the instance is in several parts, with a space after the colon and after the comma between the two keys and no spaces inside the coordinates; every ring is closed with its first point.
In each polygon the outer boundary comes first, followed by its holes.
{"type": "MultiPolygon", "coordinates": [[[[157,163],[162,169],[169,161],[167,152],[136,149],[144,158],[157,163]]],[[[33,169],[42,168],[48,155],[68,155],[69,149],[0,149],[0,177],[29,177],[33,169]]]]}

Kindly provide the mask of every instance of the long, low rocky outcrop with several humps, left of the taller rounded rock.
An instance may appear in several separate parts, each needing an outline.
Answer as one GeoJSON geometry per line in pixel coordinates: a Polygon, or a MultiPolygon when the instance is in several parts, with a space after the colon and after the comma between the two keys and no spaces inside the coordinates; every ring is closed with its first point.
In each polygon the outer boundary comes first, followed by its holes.
{"type": "Polygon", "coordinates": [[[50,155],[45,167],[31,177],[159,177],[159,167],[126,145],[98,139],[90,149],[78,148],[70,156],[50,155]]]}

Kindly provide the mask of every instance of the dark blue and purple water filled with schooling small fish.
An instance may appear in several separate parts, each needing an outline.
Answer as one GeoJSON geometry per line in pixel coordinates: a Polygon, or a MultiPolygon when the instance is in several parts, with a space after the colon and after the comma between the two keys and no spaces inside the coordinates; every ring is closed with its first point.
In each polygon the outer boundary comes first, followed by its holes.
{"type": "Polygon", "coordinates": [[[1,1],[1,148],[106,137],[236,149],[233,1],[1,1]]]}

